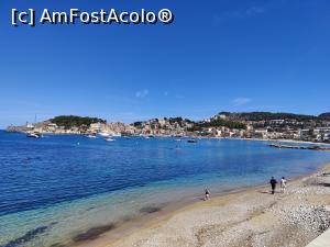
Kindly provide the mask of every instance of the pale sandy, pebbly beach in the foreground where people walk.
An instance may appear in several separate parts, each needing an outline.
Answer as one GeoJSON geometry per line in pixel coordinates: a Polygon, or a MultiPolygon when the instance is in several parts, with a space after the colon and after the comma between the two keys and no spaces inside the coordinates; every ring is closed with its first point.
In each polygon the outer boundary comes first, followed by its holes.
{"type": "MultiPolygon", "coordinates": [[[[255,187],[200,200],[135,227],[123,224],[94,242],[94,247],[275,247],[306,246],[330,226],[330,165],[288,181],[285,193],[255,187]],[[130,228],[132,227],[132,228],[130,228]],[[130,228],[130,229],[129,229],[130,228]]],[[[151,213],[152,214],[152,213],[151,213]]]]}

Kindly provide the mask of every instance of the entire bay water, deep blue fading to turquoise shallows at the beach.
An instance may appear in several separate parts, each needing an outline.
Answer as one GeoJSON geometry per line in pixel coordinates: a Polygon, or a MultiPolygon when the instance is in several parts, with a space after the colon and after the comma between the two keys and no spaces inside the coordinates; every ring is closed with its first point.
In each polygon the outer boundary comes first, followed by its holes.
{"type": "Polygon", "coordinates": [[[275,149],[266,142],[117,138],[30,139],[0,132],[0,246],[70,244],[81,233],[141,211],[288,178],[330,161],[329,153],[275,149]]]}

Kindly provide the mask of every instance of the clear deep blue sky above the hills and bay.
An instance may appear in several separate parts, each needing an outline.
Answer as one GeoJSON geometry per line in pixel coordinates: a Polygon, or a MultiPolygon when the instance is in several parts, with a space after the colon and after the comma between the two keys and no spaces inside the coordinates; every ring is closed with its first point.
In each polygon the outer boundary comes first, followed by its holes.
{"type": "Polygon", "coordinates": [[[37,114],[133,122],[330,111],[327,0],[3,0],[0,127],[37,114]],[[11,9],[157,11],[170,25],[13,27],[11,9]]]}

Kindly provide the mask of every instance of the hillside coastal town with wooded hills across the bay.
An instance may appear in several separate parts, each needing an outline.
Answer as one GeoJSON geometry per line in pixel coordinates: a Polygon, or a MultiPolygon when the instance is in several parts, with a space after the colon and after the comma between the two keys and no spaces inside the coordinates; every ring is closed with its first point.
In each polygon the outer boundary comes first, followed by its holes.
{"type": "Polygon", "coordinates": [[[202,121],[163,117],[132,124],[108,123],[102,119],[69,115],[56,116],[33,124],[26,123],[23,126],[9,126],[7,131],[41,134],[204,136],[330,143],[330,113],[315,116],[270,112],[220,112],[202,121]]]}

